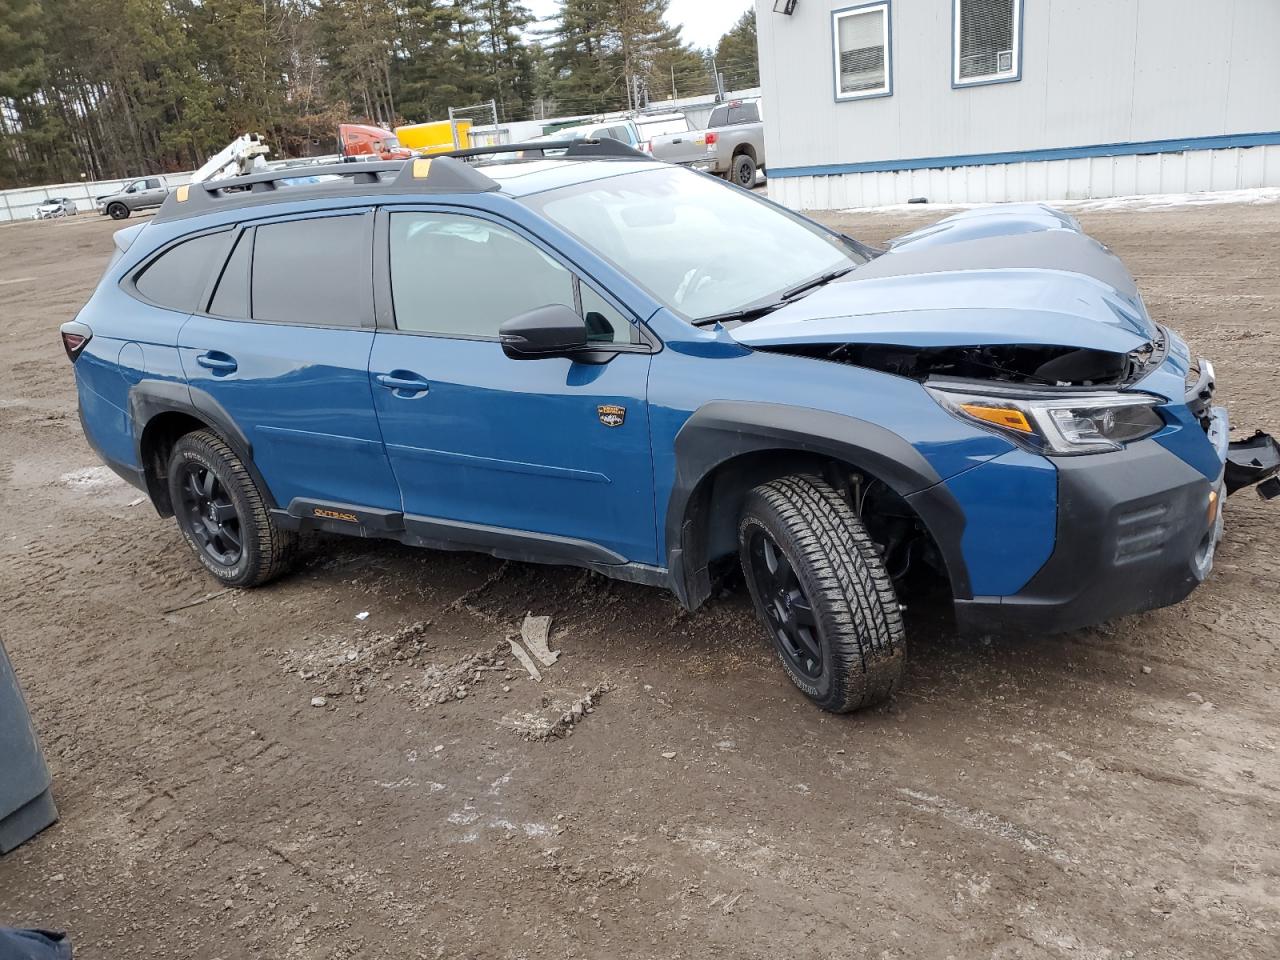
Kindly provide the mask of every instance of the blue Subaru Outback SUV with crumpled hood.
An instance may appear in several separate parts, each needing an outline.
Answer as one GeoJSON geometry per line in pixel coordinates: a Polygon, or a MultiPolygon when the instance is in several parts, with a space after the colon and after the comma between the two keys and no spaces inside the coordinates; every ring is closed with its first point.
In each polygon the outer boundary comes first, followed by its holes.
{"type": "Polygon", "coordinates": [[[881,251],[608,141],[503,151],[192,184],[116,234],[63,326],[84,434],[221,582],[305,530],[690,609],[741,564],[850,710],[900,682],[904,591],[983,634],[1175,603],[1225,494],[1276,493],[1276,444],[1229,444],[1212,366],[1069,216],[881,251]]]}

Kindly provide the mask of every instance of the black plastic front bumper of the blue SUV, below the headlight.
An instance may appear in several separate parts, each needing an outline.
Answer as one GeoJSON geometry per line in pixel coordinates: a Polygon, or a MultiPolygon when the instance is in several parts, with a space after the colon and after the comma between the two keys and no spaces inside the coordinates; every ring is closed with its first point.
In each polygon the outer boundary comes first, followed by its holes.
{"type": "Polygon", "coordinates": [[[1153,440],[1055,465],[1052,556],[1014,595],[956,600],[961,634],[1076,630],[1178,603],[1208,576],[1222,531],[1221,479],[1153,440]]]}

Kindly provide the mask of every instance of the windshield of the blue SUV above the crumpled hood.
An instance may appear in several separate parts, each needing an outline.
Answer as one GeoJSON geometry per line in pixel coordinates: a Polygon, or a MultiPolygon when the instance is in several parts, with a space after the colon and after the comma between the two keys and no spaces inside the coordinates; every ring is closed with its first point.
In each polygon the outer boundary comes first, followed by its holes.
{"type": "Polygon", "coordinates": [[[686,320],[772,303],[867,262],[817,224],[673,166],[579,183],[525,204],[686,320]]]}

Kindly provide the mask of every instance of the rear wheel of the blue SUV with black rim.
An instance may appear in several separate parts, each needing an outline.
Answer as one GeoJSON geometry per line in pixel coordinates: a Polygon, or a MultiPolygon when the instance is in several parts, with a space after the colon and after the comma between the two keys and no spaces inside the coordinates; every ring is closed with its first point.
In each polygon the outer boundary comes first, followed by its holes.
{"type": "Polygon", "coordinates": [[[227,586],[260,586],[285,572],[297,534],[282,530],[244,462],[209,430],[178,439],[169,457],[174,518],[196,557],[227,586]]]}

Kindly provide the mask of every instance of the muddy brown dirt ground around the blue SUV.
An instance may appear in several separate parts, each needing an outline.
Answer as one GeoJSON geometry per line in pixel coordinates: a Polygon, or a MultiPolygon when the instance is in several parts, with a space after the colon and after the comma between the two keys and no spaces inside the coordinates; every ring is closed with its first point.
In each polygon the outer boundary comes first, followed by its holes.
{"type": "MultiPolygon", "coordinates": [[[[940,215],[831,219],[882,242],[940,215]]],[[[1280,206],[1082,220],[1238,425],[1280,431],[1280,206]]],[[[86,445],[58,340],[113,228],[0,228],[0,630],[63,818],[0,859],[0,924],[78,957],[1280,955],[1275,504],[1233,498],[1170,609],[913,623],[905,690],[851,717],[791,687],[742,595],[689,616],[316,538],[195,604],[215,585],[86,445]],[[541,684],[504,644],[530,611],[562,650],[541,684]]]]}

